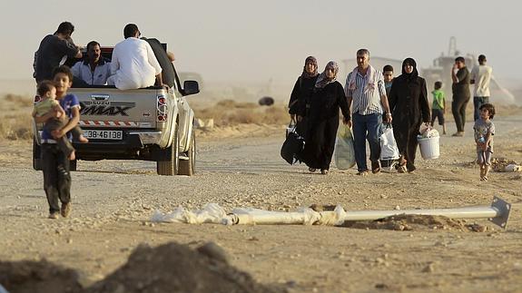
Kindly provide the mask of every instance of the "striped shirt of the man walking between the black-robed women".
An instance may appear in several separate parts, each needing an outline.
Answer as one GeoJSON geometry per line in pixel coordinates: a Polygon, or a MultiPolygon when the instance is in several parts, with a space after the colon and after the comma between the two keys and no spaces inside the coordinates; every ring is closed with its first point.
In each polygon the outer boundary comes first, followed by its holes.
{"type": "Polygon", "coordinates": [[[362,76],[357,72],[357,76],[355,77],[355,90],[349,89],[351,74],[352,73],[348,74],[346,85],[344,87],[346,96],[353,99],[351,112],[359,113],[361,115],[382,113],[380,97],[386,95],[386,87],[384,86],[384,77],[382,76],[382,73],[380,73],[379,70],[375,72],[375,80],[377,81],[379,91],[369,90],[366,93],[364,92],[364,85],[368,73],[365,76],[362,76]]]}

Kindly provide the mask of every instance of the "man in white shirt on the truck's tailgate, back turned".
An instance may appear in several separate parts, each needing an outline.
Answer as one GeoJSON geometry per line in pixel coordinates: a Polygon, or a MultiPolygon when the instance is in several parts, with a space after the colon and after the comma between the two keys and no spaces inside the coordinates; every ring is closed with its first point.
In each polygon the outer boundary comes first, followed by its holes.
{"type": "Polygon", "coordinates": [[[140,39],[136,24],[127,24],[123,29],[125,40],[116,44],[111,60],[111,77],[108,84],[120,90],[132,90],[163,85],[162,66],[154,56],[153,48],[140,39]]]}

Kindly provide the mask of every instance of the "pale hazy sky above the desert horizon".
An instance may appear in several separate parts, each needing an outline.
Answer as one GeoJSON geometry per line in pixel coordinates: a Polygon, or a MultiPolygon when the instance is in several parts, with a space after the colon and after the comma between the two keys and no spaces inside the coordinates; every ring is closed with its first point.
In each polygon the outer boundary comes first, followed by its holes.
{"type": "Polygon", "coordinates": [[[330,60],[340,63],[353,58],[359,48],[368,48],[371,56],[413,57],[419,67],[427,67],[448,52],[450,36],[457,38],[461,53],[486,54],[498,79],[522,80],[518,55],[522,4],[495,4],[478,0],[2,1],[0,80],[30,79],[34,51],[62,21],[74,24],[74,43],[83,45],[91,40],[117,44],[123,40],[124,25],[137,24],[144,36],[168,44],[178,71],[201,73],[205,83],[293,84],[306,56],[316,56],[322,71],[330,60]]]}

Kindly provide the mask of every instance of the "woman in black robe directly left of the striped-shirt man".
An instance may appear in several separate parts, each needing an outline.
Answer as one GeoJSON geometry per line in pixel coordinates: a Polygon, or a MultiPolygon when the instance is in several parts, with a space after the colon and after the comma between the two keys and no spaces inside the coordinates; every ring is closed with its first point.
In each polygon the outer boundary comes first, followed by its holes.
{"type": "MultiPolygon", "coordinates": [[[[339,66],[330,61],[324,72],[320,73],[310,96],[310,109],[300,105],[299,115],[306,116],[308,135],[303,151],[304,162],[313,172],[320,169],[321,174],[328,174],[331,156],[335,147],[335,138],[339,127],[339,109],[343,122],[350,120],[348,102],[342,85],[337,81],[339,66]]],[[[299,118],[298,118],[299,119],[299,118]]]]}

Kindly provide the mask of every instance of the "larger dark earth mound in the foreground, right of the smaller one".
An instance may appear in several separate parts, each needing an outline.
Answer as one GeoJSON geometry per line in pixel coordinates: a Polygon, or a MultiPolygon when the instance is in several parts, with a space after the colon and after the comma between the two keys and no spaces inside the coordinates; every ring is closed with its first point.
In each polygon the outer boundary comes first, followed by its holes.
{"type": "Polygon", "coordinates": [[[231,267],[217,245],[138,247],[122,268],[87,292],[277,292],[231,267]]]}

